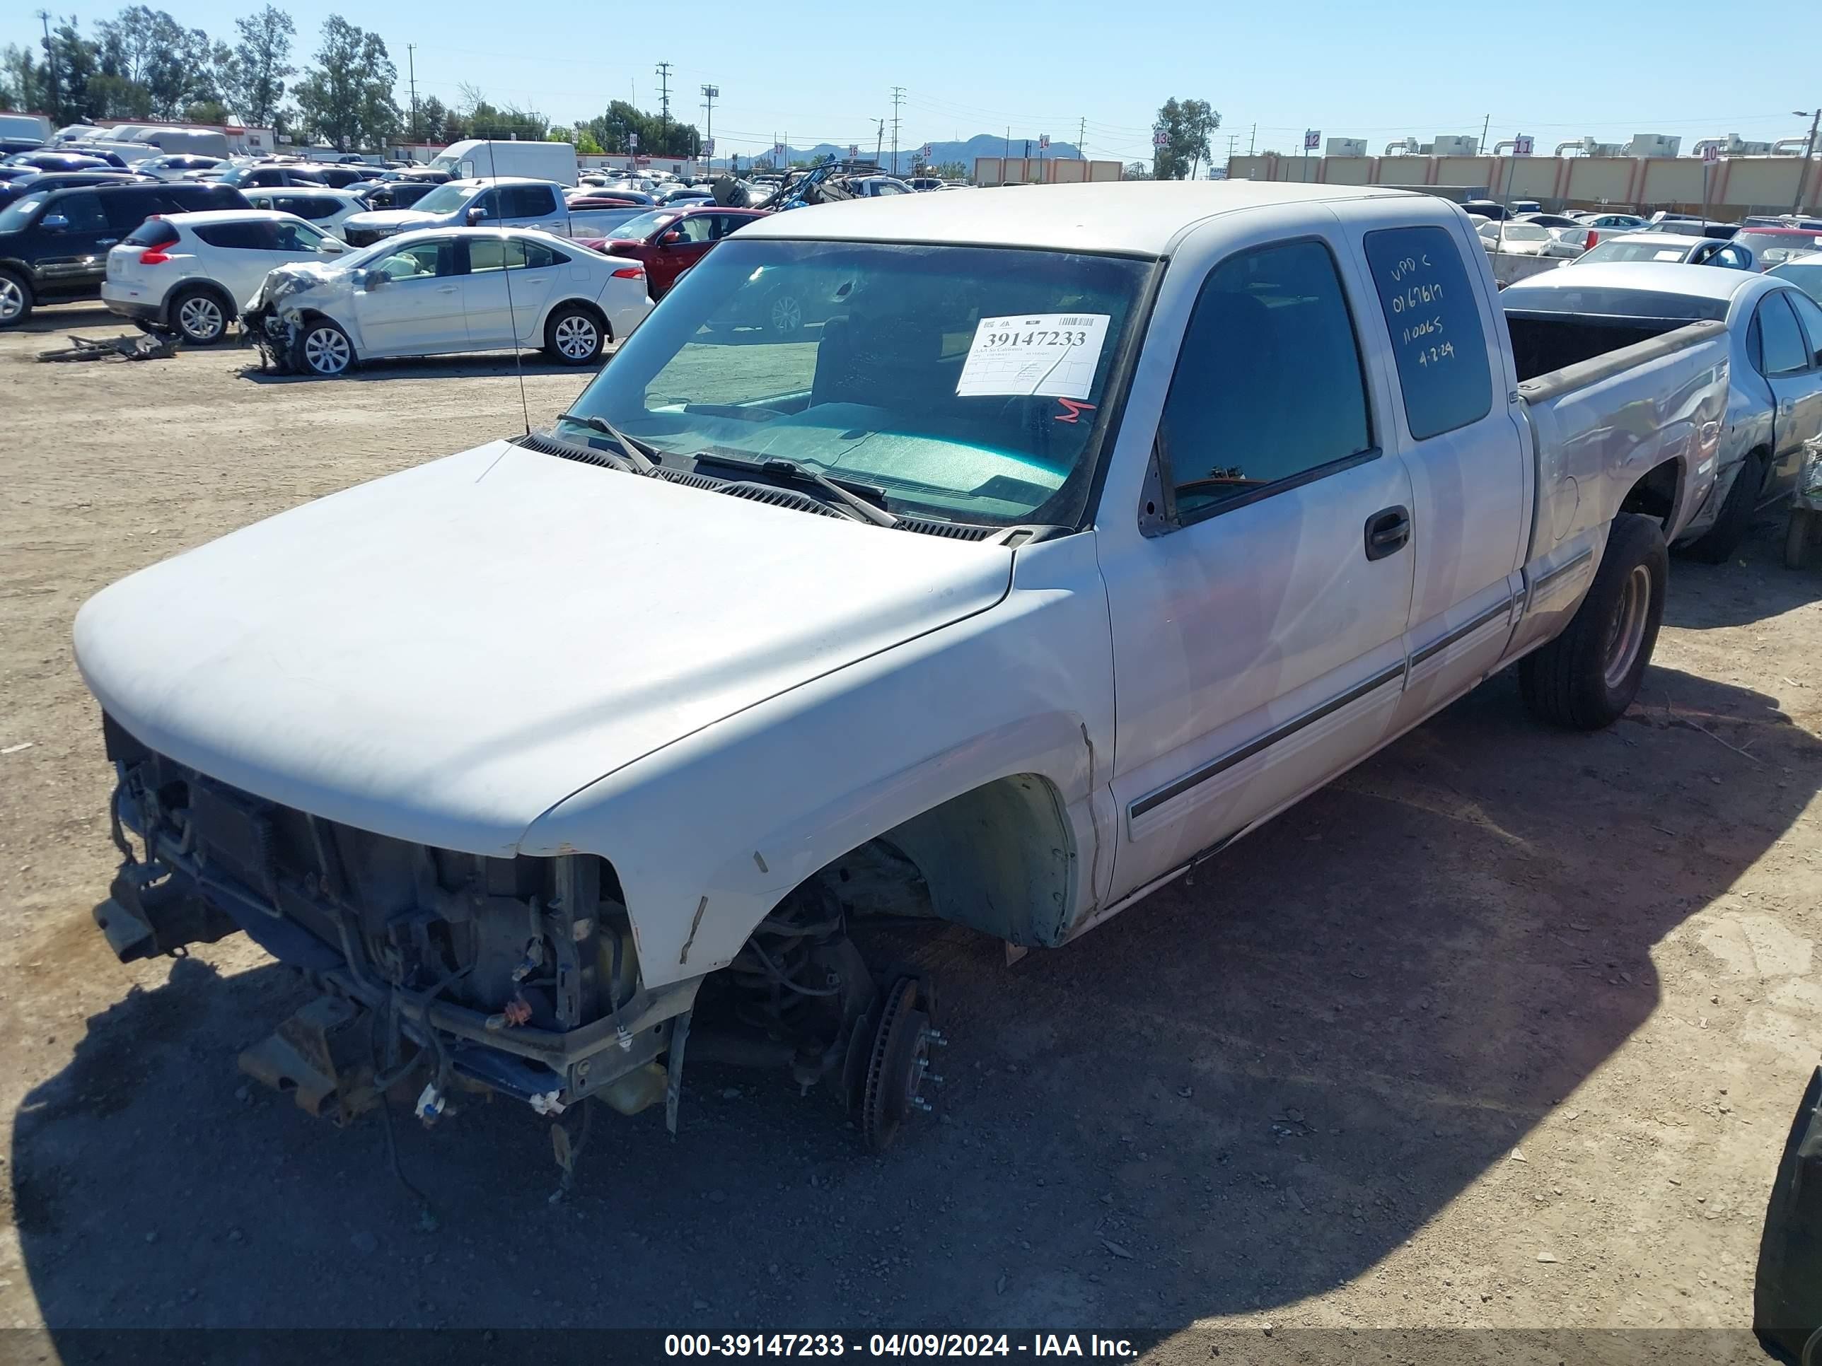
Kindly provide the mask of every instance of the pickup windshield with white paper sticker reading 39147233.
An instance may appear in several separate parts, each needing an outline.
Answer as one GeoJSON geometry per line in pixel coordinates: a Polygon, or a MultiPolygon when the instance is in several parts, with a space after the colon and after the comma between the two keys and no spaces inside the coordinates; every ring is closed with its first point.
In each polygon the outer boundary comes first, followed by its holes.
{"type": "MultiPolygon", "coordinates": [[[[1064,251],[732,237],[572,408],[663,455],[785,459],[873,484],[893,512],[1073,526],[1152,270],[1064,251]]],[[[559,432],[609,444],[581,424],[559,432]]]]}

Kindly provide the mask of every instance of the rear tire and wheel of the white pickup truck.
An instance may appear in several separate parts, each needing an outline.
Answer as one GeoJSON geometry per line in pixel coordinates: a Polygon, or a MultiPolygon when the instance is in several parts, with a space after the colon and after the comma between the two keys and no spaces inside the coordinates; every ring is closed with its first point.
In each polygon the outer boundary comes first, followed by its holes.
{"type": "Polygon", "coordinates": [[[1625,714],[1658,643],[1667,577],[1663,528],[1634,512],[1614,517],[1581,607],[1561,636],[1518,665],[1518,687],[1532,716],[1571,730],[1600,730],[1625,714]]]}

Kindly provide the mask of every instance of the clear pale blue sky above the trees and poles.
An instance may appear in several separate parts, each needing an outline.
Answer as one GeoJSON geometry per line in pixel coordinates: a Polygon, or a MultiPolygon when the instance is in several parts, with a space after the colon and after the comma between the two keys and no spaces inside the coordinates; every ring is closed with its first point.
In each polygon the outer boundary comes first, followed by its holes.
{"type": "MultiPolygon", "coordinates": [[[[159,0],[153,0],[157,4],[159,0]]],[[[120,2],[49,5],[84,31],[120,2]]],[[[166,0],[186,27],[233,38],[241,0],[166,0]]],[[[536,107],[554,122],[594,117],[610,98],[658,107],[656,64],[669,60],[672,117],[703,124],[703,84],[720,153],[856,142],[878,118],[891,146],[893,91],[904,87],[900,148],[975,133],[1015,140],[1048,133],[1090,157],[1150,160],[1150,126],[1170,97],[1223,115],[1217,160],[1235,151],[1295,151],[1303,131],[1387,142],[1467,133],[1489,142],[1529,133],[1538,153],[1596,137],[1671,133],[1687,153],[1700,137],[1776,140],[1807,131],[1793,111],[1822,100],[1809,42],[1766,42],[1756,25],[1715,24],[1711,5],[1543,0],[1525,7],[1414,0],[1396,7],[1213,5],[1168,0],[1110,13],[1106,4],[1024,5],[922,0],[873,7],[802,0],[756,7],[514,5],[501,0],[390,0],[353,7],[284,5],[297,22],[297,64],[322,20],[374,27],[399,67],[415,44],[419,98],[459,100],[477,86],[496,106],[536,107]],[[523,18],[536,15],[536,24],[523,18]],[[670,18],[667,18],[667,15],[670,18]],[[1751,46],[1747,33],[1753,33],[1751,46]],[[1233,142],[1228,142],[1233,138],[1233,142]]],[[[5,5],[0,44],[38,35],[33,9],[5,5]]]]}

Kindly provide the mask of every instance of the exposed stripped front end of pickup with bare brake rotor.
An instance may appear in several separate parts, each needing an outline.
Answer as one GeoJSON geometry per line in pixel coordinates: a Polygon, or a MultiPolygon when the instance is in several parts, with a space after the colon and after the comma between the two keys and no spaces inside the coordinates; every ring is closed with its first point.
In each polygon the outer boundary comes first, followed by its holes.
{"type": "Polygon", "coordinates": [[[297,969],[319,996],[239,1062],[312,1115],[348,1124],[392,1100],[430,1124],[470,1091],[539,1115],[661,1100],[674,1131],[685,1047],[840,1087],[875,1147],[927,1109],[918,1087],[942,1044],[929,982],[875,978],[822,883],[785,898],[725,971],[647,987],[599,856],[395,840],[206,778],[113,718],[104,732],[122,852],[95,909],[109,947],[131,962],[244,931],[297,969]]]}

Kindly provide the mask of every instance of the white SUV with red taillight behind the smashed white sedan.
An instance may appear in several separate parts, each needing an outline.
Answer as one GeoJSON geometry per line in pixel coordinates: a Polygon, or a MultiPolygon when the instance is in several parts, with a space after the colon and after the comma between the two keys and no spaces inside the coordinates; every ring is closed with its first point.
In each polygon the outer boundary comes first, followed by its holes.
{"type": "Polygon", "coordinates": [[[241,301],[273,266],[326,260],[346,250],[290,213],[166,213],[146,219],[107,251],[102,302],[120,317],[175,328],[184,341],[210,346],[228,335],[241,301]]]}

